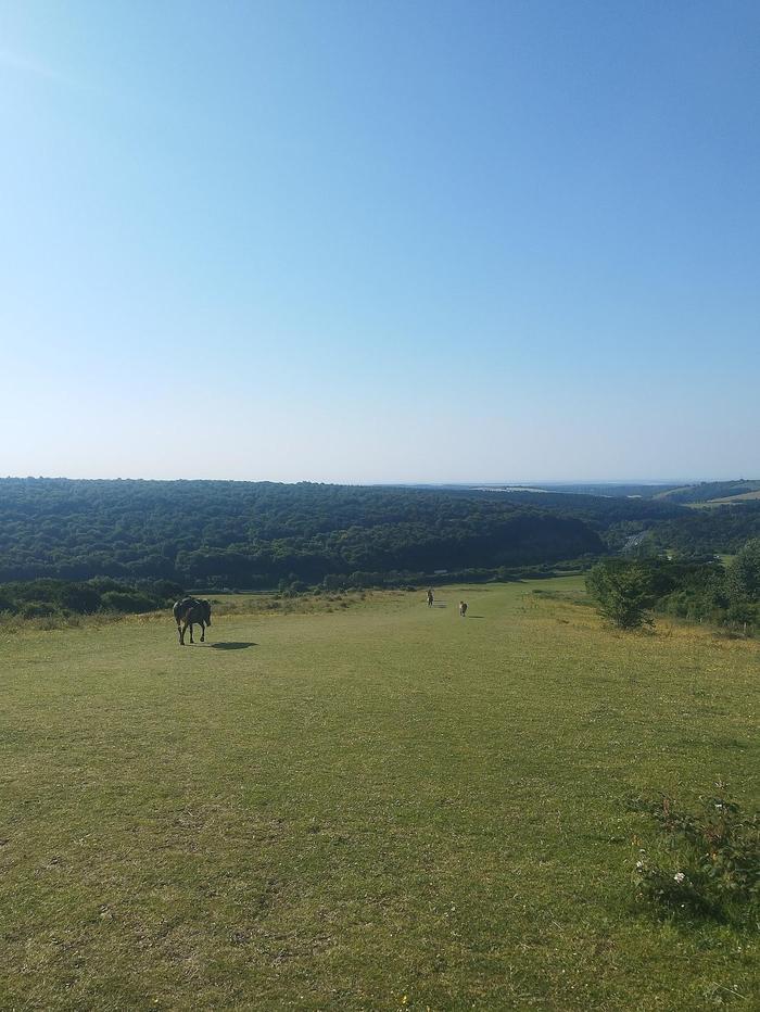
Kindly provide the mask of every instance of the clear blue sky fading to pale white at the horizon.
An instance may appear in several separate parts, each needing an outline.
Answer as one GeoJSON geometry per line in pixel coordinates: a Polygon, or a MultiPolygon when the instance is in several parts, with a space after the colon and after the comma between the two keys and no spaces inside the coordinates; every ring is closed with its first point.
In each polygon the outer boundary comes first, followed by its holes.
{"type": "Polygon", "coordinates": [[[0,0],[0,475],[760,475],[757,0],[0,0]]]}

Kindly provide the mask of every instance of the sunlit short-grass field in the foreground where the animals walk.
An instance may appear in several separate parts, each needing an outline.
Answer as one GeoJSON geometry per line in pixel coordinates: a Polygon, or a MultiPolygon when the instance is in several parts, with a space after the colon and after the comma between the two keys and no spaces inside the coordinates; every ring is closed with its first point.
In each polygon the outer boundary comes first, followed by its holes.
{"type": "Polygon", "coordinates": [[[0,632],[0,1008],[758,1008],[626,798],[755,800],[760,647],[580,585],[0,632]]]}

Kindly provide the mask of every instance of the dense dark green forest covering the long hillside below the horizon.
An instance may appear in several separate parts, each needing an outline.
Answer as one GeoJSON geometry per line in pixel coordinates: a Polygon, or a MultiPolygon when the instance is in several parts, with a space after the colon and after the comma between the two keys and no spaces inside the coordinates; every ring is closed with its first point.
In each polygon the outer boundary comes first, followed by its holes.
{"type": "Polygon", "coordinates": [[[581,493],[0,479],[0,582],[265,589],[353,575],[360,585],[600,556],[642,532],[650,551],[733,553],[760,534],[760,503],[695,510],[581,493]]]}

